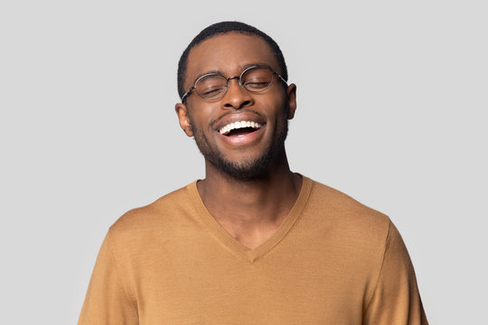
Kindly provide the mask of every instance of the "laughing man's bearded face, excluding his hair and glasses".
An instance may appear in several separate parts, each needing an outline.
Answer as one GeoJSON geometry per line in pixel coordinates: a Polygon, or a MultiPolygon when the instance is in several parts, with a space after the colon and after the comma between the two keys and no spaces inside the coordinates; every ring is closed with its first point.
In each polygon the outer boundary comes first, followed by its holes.
{"type": "MultiPolygon", "coordinates": [[[[205,73],[217,71],[229,78],[253,65],[281,72],[261,38],[235,32],[215,36],[190,52],[184,87],[191,88],[205,73]]],[[[295,90],[295,85],[286,88],[275,77],[270,88],[251,93],[239,86],[238,79],[231,79],[223,98],[206,100],[193,90],[186,105],[177,104],[176,111],[183,130],[194,136],[207,162],[234,178],[253,179],[266,172],[277,157],[284,157],[287,120],[296,109],[295,90]],[[226,133],[236,122],[251,127],[226,133]]]]}

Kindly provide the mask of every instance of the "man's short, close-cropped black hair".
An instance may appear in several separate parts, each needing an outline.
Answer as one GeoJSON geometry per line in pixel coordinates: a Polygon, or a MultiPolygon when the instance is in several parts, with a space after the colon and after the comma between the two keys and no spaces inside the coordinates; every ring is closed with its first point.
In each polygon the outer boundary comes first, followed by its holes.
{"type": "Polygon", "coordinates": [[[253,27],[247,23],[240,23],[240,22],[221,22],[221,23],[214,23],[208,26],[207,28],[203,29],[198,35],[193,38],[192,42],[188,44],[186,49],[183,51],[183,54],[178,62],[178,94],[180,98],[183,97],[184,92],[186,89],[183,88],[183,82],[186,74],[186,68],[188,66],[188,54],[192,51],[192,48],[196,45],[202,43],[210,39],[213,36],[225,34],[228,32],[239,32],[249,35],[256,35],[262,38],[269,47],[275,57],[277,58],[277,62],[279,65],[279,69],[281,76],[283,79],[288,80],[288,71],[286,70],[286,63],[285,58],[283,57],[283,53],[279,49],[277,42],[275,42],[271,37],[269,37],[265,32],[261,32],[258,28],[253,27]]]}

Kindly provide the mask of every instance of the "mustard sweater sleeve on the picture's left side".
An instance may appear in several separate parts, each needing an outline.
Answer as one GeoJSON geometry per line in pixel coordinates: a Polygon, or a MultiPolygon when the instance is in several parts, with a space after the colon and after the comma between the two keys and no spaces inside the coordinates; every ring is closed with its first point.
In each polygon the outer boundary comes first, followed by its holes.
{"type": "Polygon", "coordinates": [[[109,244],[110,233],[100,248],[89,289],[80,313],[79,325],[136,325],[134,300],[129,299],[117,274],[117,262],[109,244]]]}

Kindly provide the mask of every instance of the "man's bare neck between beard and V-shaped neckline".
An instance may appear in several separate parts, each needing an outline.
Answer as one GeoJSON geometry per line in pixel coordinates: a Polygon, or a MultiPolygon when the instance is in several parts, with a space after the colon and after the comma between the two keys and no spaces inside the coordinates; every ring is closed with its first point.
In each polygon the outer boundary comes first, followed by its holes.
{"type": "Polygon", "coordinates": [[[301,185],[301,176],[290,171],[284,153],[252,180],[231,178],[206,162],[206,178],[199,181],[198,190],[211,215],[236,235],[243,228],[278,226],[295,204],[301,185]]]}

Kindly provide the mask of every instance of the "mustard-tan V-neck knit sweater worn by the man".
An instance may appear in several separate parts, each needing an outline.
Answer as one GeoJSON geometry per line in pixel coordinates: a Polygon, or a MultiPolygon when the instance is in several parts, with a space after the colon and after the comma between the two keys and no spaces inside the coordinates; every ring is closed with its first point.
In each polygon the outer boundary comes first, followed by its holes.
{"type": "Polygon", "coordinates": [[[427,324],[389,218],[304,177],[294,207],[250,250],[196,181],[109,229],[79,324],[427,324]]]}

